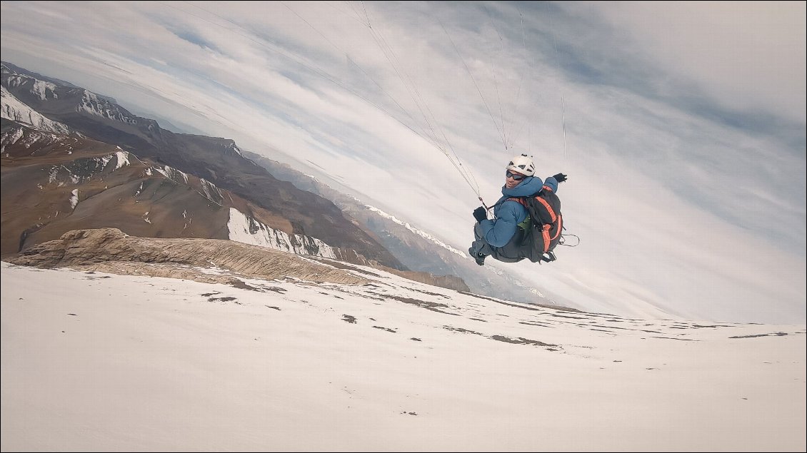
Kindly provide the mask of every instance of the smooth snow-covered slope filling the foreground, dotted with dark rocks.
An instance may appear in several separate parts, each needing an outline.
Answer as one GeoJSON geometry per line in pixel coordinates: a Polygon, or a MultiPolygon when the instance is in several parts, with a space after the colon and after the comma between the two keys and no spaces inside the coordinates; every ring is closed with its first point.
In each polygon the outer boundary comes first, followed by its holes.
{"type": "Polygon", "coordinates": [[[804,324],[647,321],[372,268],[355,275],[372,284],[243,279],[236,288],[3,262],[0,447],[807,446],[804,324]]]}

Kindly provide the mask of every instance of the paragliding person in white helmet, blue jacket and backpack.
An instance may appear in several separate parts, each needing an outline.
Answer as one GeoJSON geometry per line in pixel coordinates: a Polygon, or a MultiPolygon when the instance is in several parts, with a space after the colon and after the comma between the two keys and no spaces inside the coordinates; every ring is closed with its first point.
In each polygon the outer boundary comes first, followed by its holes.
{"type": "Polygon", "coordinates": [[[471,243],[468,253],[480,266],[485,264],[487,256],[505,263],[514,263],[525,258],[533,262],[554,260],[550,247],[554,247],[554,243],[557,243],[562,229],[560,201],[555,193],[558,192],[558,183],[566,181],[567,175],[558,173],[547,177],[546,181],[541,181],[540,177],[535,176],[533,158],[521,154],[514,156],[507,164],[504,177],[502,197],[492,206],[494,218],[487,218],[487,210],[483,206],[474,210],[475,240],[471,243]],[[533,210],[534,217],[545,219],[528,219],[530,211],[527,200],[536,197],[543,200],[545,196],[550,202],[537,203],[538,209],[542,212],[533,210]],[[554,201],[551,201],[552,198],[554,201]],[[530,234],[533,226],[530,226],[529,222],[537,227],[536,235],[530,234]],[[528,243],[535,241],[541,243],[528,243]],[[551,241],[554,243],[550,245],[551,241]],[[549,257],[544,255],[545,253],[548,253],[549,257]]]}

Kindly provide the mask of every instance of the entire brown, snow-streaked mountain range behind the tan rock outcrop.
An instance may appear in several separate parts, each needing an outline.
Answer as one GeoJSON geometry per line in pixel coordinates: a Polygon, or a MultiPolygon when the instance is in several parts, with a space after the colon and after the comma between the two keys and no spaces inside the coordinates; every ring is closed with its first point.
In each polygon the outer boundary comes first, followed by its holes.
{"type": "Polygon", "coordinates": [[[374,265],[414,280],[467,289],[453,276],[408,271],[332,202],[272,177],[243,156],[232,139],[163,131],[156,121],[132,115],[113,98],[56,85],[54,79],[40,81],[13,68],[3,62],[3,256],[88,226],[119,227],[145,237],[211,239],[229,239],[241,227],[242,242],[374,265]],[[17,95],[34,106],[22,100],[12,105],[17,95]],[[18,105],[30,108],[27,116],[17,114],[18,105]],[[43,119],[25,121],[31,112],[43,119]],[[36,129],[45,121],[63,127],[36,129]],[[31,190],[31,183],[38,189],[31,190]],[[50,202],[38,199],[51,191],[50,202]],[[204,211],[201,216],[180,209],[189,196],[196,200],[191,203],[196,214],[204,211]],[[143,202],[148,209],[137,207],[143,202]],[[23,215],[8,215],[11,210],[23,215]],[[325,234],[306,234],[311,231],[325,234]],[[339,244],[346,238],[353,248],[313,239],[321,236],[339,244]]]}

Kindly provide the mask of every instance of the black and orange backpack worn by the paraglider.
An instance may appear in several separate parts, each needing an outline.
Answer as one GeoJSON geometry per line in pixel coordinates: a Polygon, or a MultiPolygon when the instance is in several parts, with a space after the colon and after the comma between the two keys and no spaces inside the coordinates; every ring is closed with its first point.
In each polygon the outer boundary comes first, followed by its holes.
{"type": "Polygon", "coordinates": [[[540,192],[529,197],[512,197],[527,209],[527,218],[518,224],[524,231],[521,237],[520,256],[533,263],[554,261],[554,248],[562,242],[563,218],[560,198],[552,189],[543,186],[540,192]]]}

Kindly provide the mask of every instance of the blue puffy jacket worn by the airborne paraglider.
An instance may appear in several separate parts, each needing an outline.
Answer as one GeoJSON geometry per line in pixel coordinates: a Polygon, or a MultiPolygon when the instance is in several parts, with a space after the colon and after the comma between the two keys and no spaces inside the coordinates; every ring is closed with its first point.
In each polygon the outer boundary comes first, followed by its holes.
{"type": "Polygon", "coordinates": [[[539,177],[525,177],[519,185],[508,189],[502,186],[502,197],[495,203],[493,208],[494,220],[483,220],[479,222],[482,228],[483,238],[491,247],[504,247],[513,235],[516,235],[518,224],[527,218],[527,208],[519,202],[507,201],[510,197],[529,197],[537,193],[543,186],[549,186],[555,193],[558,192],[558,181],[554,177],[541,181],[539,177]]]}

